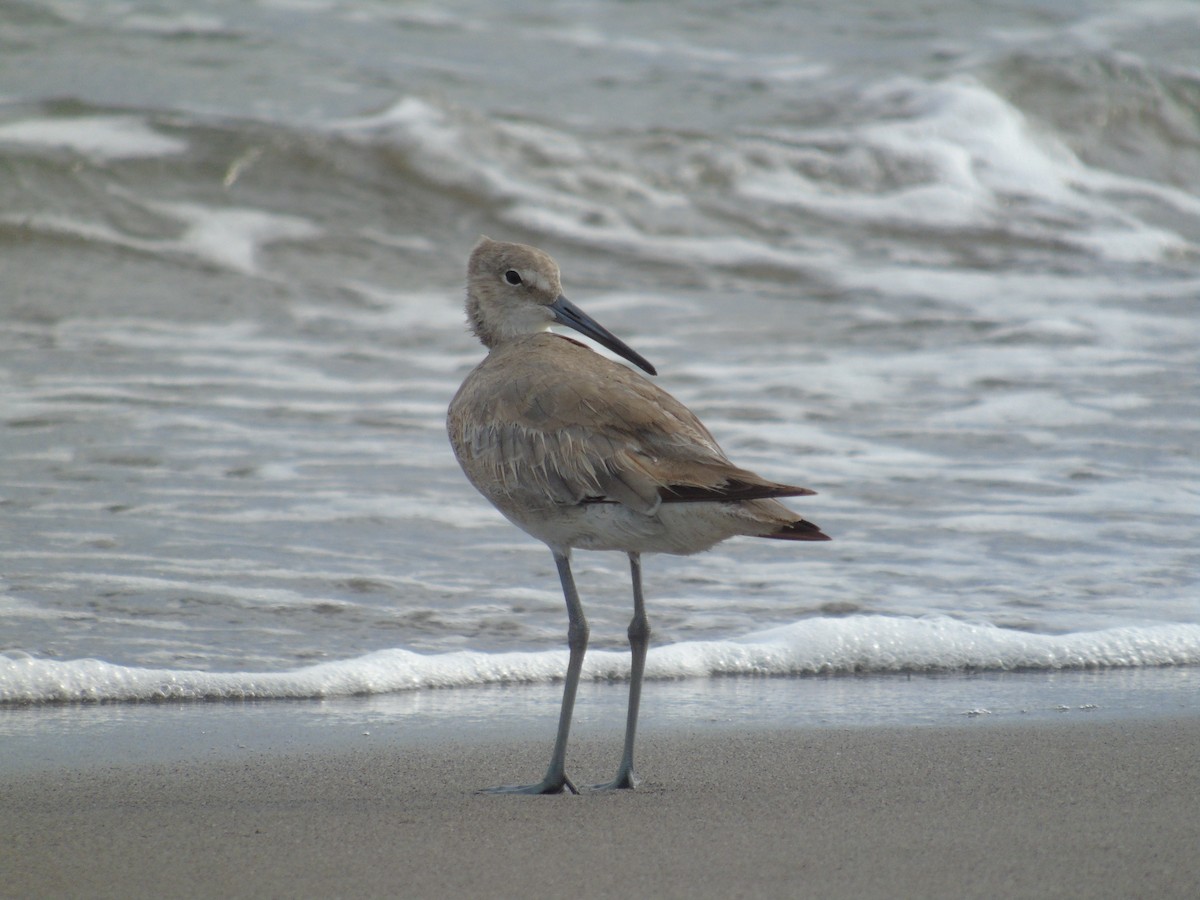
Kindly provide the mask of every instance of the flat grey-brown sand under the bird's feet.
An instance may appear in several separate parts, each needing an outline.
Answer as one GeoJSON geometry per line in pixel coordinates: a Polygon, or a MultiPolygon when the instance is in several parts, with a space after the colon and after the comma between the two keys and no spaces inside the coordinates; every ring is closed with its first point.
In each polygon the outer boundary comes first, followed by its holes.
{"type": "Polygon", "coordinates": [[[0,894],[1194,898],[1198,748],[1196,718],[674,730],[635,793],[533,798],[473,788],[544,742],[8,774],[0,894]]]}

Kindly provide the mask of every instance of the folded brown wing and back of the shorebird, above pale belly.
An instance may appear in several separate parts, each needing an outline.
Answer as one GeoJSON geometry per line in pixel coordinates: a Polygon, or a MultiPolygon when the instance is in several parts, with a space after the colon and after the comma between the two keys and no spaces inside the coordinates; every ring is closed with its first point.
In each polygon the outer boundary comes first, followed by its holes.
{"type": "Polygon", "coordinates": [[[493,350],[451,403],[450,433],[476,487],[527,503],[608,502],[652,514],[660,503],[811,493],[733,466],[683,403],[554,335],[493,350]]]}

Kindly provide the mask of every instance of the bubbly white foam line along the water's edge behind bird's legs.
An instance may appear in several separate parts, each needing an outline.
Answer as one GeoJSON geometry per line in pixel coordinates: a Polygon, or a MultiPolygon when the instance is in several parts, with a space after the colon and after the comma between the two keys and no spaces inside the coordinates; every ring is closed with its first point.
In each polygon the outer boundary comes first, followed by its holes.
{"type": "MultiPolygon", "coordinates": [[[[805,619],[730,641],[654,648],[653,679],[953,671],[1054,671],[1200,664],[1200,625],[1117,628],[1040,635],[949,618],[851,616],[805,619]]],[[[199,672],[121,666],[95,659],[0,656],[0,702],[76,703],[198,700],[302,700],[431,688],[550,683],[565,650],[533,653],[403,649],[286,672],[199,672]]],[[[619,680],[629,656],[595,650],[584,678],[619,680]]]]}

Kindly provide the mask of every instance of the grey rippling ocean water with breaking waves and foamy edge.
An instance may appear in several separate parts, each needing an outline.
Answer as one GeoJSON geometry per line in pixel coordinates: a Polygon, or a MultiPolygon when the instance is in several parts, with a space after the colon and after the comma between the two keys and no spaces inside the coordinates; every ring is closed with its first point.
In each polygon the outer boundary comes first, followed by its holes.
{"type": "MultiPolygon", "coordinates": [[[[1194,696],[1195,6],[876,6],[5,5],[0,702],[560,678],[445,439],[479,234],[818,492],[830,544],[647,559],[652,678],[1194,696]]],[[[575,570],[619,683],[626,563],[575,570]]]]}

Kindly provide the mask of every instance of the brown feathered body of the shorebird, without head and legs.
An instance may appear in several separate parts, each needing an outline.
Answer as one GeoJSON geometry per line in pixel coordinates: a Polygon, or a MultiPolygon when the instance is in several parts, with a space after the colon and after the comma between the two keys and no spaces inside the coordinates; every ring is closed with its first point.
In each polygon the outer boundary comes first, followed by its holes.
{"type": "Polygon", "coordinates": [[[812,493],[733,466],[670,394],[550,332],[496,347],[463,382],[448,426],[472,484],[547,542],[695,552],[733,534],[792,536],[769,535],[802,521],[770,498],[812,493]],[[685,540],[626,546],[684,517],[685,540]]]}

